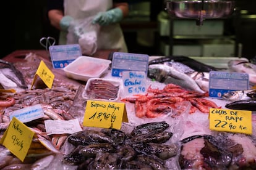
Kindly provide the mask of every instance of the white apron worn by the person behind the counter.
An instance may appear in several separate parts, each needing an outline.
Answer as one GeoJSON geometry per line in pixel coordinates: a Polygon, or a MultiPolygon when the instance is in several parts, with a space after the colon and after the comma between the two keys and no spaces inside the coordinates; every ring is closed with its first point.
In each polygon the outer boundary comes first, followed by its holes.
{"type": "MultiPolygon", "coordinates": [[[[64,15],[81,19],[105,12],[113,7],[112,0],[64,0],[64,15]]],[[[61,31],[59,44],[67,44],[67,32],[61,31]]],[[[117,49],[127,52],[126,42],[119,23],[101,26],[97,40],[98,49],[117,49]]]]}

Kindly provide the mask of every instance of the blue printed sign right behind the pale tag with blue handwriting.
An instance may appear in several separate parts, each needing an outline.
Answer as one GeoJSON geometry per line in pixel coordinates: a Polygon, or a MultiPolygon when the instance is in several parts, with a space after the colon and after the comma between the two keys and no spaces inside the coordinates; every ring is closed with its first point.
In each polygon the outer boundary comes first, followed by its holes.
{"type": "Polygon", "coordinates": [[[148,55],[127,52],[114,52],[111,73],[114,77],[122,77],[122,71],[143,71],[148,73],[148,55]]]}

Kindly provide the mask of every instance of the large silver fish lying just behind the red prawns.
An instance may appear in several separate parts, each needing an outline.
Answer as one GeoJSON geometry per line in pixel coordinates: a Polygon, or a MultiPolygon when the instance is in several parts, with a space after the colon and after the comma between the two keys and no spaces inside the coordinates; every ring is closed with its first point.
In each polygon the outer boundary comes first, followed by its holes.
{"type": "Polygon", "coordinates": [[[184,89],[189,89],[196,92],[203,91],[193,78],[186,73],[182,73],[173,67],[163,64],[152,64],[148,66],[148,78],[155,78],[161,83],[173,83],[184,89]]]}

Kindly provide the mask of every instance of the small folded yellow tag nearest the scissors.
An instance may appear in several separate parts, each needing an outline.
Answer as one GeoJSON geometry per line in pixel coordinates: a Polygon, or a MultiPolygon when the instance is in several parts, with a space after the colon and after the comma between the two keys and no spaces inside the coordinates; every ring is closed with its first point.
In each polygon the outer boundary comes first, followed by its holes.
{"type": "MultiPolygon", "coordinates": [[[[49,70],[43,60],[41,60],[40,65],[36,70],[36,75],[38,75],[42,79],[43,83],[45,83],[46,86],[49,87],[49,89],[51,89],[51,86],[53,86],[54,74],[51,72],[51,70],[49,70]]],[[[33,87],[33,84],[35,83],[36,75],[34,76],[31,87],[33,87]]]]}

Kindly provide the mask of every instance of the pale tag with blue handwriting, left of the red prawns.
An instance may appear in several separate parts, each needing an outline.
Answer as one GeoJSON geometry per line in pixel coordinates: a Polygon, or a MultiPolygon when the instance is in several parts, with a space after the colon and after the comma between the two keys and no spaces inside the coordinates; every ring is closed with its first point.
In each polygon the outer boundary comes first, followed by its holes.
{"type": "Polygon", "coordinates": [[[124,95],[145,94],[147,92],[146,78],[147,75],[143,71],[123,71],[124,95]]]}

